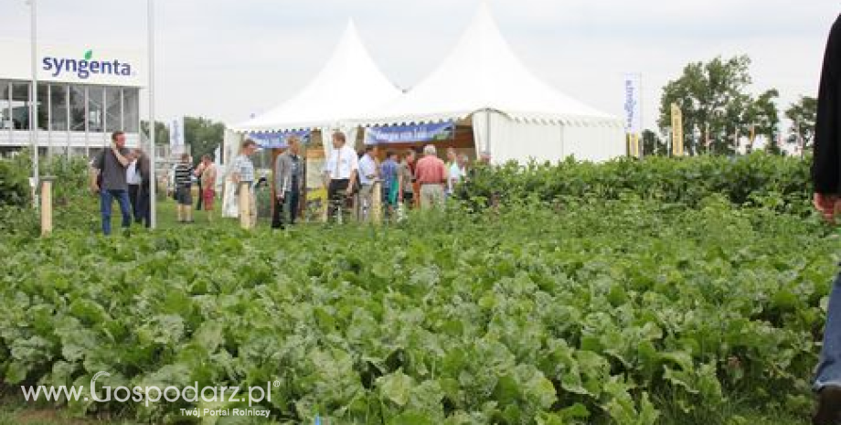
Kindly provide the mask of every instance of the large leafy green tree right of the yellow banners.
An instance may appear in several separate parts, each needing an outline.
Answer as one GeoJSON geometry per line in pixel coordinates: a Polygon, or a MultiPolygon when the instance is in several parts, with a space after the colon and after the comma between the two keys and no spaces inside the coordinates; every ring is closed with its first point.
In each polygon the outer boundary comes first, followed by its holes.
{"type": "MultiPolygon", "coordinates": [[[[714,153],[731,154],[735,147],[735,134],[751,131],[753,117],[761,116],[762,125],[770,125],[772,117],[766,111],[767,104],[756,105],[757,101],[773,101],[776,90],[768,90],[765,98],[754,100],[748,94],[751,86],[751,58],[714,58],[707,63],[694,62],[684,68],[677,80],[668,82],[660,101],[658,124],[665,129],[671,126],[671,105],[676,103],[683,112],[683,130],[688,154],[709,150],[714,153]],[[707,137],[710,146],[704,146],[707,137]],[[699,135],[699,137],[698,137],[699,135]]],[[[759,123],[757,123],[759,124],[759,123]]]]}

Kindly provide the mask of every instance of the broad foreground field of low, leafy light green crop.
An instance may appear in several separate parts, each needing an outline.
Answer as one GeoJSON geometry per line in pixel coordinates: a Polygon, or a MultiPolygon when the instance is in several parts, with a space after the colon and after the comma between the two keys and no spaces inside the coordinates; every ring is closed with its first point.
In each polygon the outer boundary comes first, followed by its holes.
{"type": "MultiPolygon", "coordinates": [[[[737,400],[806,409],[837,232],[696,204],[570,197],[388,228],[8,237],[0,374],[277,382],[260,405],[284,424],[735,424],[737,400]]],[[[63,403],[155,423],[208,407],[63,403]]]]}

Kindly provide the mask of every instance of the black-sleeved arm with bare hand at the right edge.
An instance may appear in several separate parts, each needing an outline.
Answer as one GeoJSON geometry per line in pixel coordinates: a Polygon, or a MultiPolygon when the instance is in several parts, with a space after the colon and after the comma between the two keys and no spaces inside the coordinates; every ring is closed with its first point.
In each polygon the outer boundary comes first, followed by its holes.
{"type": "Polygon", "coordinates": [[[816,207],[828,221],[833,221],[836,215],[836,204],[841,182],[841,131],[838,125],[838,115],[841,114],[841,19],[836,21],[829,33],[824,56],[824,67],[821,72],[821,83],[818,90],[817,116],[814,128],[814,156],[812,164],[812,179],[814,182],[814,207],[816,207]]]}

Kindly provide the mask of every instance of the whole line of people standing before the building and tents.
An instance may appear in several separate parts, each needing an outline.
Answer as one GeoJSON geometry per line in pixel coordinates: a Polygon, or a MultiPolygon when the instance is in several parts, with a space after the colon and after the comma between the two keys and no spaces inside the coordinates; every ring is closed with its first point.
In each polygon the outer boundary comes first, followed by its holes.
{"type": "MultiPolygon", "coordinates": [[[[327,188],[327,219],[342,221],[351,211],[361,221],[373,216],[375,184],[381,184],[381,204],[387,217],[399,217],[405,208],[442,208],[446,197],[452,196],[456,187],[468,178],[468,157],[448,148],[444,163],[434,145],[426,145],[422,156],[413,149],[403,153],[389,150],[383,161],[378,160],[377,149],[367,146],[357,153],[347,144],[344,133],[334,133],[332,149],[327,154],[323,175],[327,188]]],[[[229,183],[234,197],[239,198],[240,187],[251,191],[255,184],[255,168],[250,157],[257,151],[257,143],[247,140],[240,146],[240,153],[229,165],[229,183]],[[244,185],[243,185],[244,184],[244,185]]],[[[487,155],[482,161],[487,161],[487,155]]],[[[122,227],[132,221],[149,227],[151,218],[150,162],[148,155],[139,149],[125,147],[122,132],[112,134],[112,145],[92,162],[95,173],[91,187],[100,195],[102,231],[111,233],[112,203],[116,199],[122,213],[122,227]]],[[[288,140],[288,148],[274,162],[274,206],[272,228],[293,225],[298,218],[300,199],[305,189],[302,142],[297,136],[288,140]]],[[[208,220],[213,220],[216,200],[218,169],[213,158],[202,156],[199,165],[193,165],[190,154],[182,154],[173,168],[172,196],[177,204],[179,223],[192,223],[193,185],[198,185],[199,203],[208,220]]],[[[249,219],[256,224],[255,197],[250,196],[249,219]]]]}

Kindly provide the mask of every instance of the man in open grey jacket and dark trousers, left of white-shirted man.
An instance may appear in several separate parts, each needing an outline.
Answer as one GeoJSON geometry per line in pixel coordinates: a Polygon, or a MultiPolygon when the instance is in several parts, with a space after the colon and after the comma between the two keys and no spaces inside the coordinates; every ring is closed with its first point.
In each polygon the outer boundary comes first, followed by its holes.
{"type": "Polygon", "coordinates": [[[293,135],[289,138],[289,147],[274,161],[275,202],[271,228],[283,228],[284,209],[289,211],[289,224],[294,226],[302,185],[301,139],[293,135]]]}

